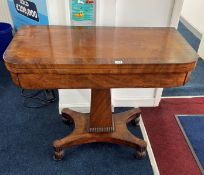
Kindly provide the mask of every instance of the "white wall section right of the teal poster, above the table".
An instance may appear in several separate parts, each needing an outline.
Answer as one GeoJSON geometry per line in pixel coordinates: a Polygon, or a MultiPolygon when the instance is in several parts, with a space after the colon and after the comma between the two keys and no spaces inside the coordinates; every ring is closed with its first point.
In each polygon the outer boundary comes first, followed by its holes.
{"type": "Polygon", "coordinates": [[[168,26],[174,0],[97,0],[97,25],[168,26]]]}

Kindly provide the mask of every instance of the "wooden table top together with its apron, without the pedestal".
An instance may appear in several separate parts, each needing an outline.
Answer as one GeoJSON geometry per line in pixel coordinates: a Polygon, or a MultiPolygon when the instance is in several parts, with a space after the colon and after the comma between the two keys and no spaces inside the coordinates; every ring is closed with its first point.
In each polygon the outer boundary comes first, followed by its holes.
{"type": "Polygon", "coordinates": [[[175,87],[197,57],[174,28],[59,26],[21,28],[4,54],[25,89],[175,87]]]}

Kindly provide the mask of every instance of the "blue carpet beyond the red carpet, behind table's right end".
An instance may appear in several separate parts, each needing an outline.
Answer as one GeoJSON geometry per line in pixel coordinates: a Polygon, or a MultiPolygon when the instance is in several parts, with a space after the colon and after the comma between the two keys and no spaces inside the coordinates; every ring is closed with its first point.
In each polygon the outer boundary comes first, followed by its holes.
{"type": "MultiPolygon", "coordinates": [[[[182,23],[179,23],[178,31],[197,51],[200,40],[196,38],[182,23]]],[[[199,96],[204,95],[204,60],[199,58],[195,70],[189,82],[185,86],[176,88],[165,88],[162,96],[199,96]]]]}

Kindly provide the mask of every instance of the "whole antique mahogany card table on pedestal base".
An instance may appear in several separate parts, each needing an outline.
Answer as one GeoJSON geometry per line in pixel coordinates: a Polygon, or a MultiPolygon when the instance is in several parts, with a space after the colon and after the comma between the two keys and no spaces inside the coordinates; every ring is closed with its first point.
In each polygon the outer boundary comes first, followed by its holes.
{"type": "Polygon", "coordinates": [[[24,26],[4,54],[21,88],[91,89],[90,114],[62,111],[75,128],[54,141],[56,160],[65,148],[93,142],[126,145],[143,158],[146,142],[126,126],[140,109],[112,114],[110,89],[182,86],[197,58],[174,28],[24,26]]]}

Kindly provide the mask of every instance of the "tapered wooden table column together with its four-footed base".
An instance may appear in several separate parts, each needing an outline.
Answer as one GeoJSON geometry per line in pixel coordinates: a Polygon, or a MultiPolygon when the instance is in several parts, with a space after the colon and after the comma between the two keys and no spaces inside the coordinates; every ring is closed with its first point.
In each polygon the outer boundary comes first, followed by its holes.
{"type": "Polygon", "coordinates": [[[126,125],[139,117],[140,112],[137,108],[112,115],[110,89],[93,89],[90,114],[63,109],[63,119],[74,122],[75,128],[70,135],[54,141],[54,158],[61,160],[65,148],[93,142],[126,145],[135,149],[137,158],[143,158],[146,142],[134,136],[126,125]]]}

